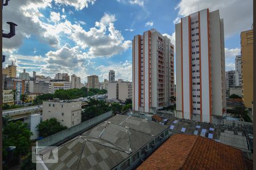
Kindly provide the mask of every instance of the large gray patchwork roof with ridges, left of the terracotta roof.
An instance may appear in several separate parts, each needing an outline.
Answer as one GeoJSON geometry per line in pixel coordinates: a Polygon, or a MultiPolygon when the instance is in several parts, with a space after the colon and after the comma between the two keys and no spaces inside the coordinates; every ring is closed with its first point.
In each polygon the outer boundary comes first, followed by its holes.
{"type": "Polygon", "coordinates": [[[116,115],[59,146],[59,161],[49,169],[112,169],[152,141],[168,126],[116,115]]]}

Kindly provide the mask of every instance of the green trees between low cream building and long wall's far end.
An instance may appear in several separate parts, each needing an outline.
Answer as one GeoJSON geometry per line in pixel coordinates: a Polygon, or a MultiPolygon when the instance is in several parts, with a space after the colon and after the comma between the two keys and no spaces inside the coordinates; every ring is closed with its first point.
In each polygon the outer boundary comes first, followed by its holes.
{"type": "Polygon", "coordinates": [[[109,112],[110,110],[111,108],[109,107],[109,104],[106,103],[106,101],[90,99],[88,102],[88,107],[86,107],[82,112],[82,122],[100,114],[109,112]]]}

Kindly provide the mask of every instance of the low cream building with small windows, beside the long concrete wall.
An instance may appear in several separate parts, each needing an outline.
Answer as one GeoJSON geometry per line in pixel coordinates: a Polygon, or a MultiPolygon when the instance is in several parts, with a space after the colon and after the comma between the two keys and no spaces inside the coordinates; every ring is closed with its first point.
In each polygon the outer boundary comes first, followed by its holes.
{"type": "Polygon", "coordinates": [[[81,123],[82,101],[43,101],[43,121],[56,118],[61,125],[71,128],[81,123]]]}

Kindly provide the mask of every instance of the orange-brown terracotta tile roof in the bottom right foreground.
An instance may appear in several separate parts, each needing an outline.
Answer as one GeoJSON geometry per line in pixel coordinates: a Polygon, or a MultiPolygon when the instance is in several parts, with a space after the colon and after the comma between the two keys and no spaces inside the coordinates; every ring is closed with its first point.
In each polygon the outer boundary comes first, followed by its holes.
{"type": "Polygon", "coordinates": [[[242,151],[198,135],[174,134],[137,169],[246,169],[242,151]]]}

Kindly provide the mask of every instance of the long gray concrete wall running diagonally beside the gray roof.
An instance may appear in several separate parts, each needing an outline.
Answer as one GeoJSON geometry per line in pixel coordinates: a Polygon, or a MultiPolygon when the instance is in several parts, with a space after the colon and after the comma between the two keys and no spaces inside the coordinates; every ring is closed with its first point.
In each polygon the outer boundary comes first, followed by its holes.
{"type": "Polygon", "coordinates": [[[92,126],[97,125],[98,123],[106,120],[112,116],[112,111],[106,112],[99,116],[93,117],[90,120],[81,122],[81,124],[73,126],[72,128],[65,129],[59,133],[53,134],[49,137],[43,138],[40,141],[36,142],[36,146],[57,146],[60,143],[67,141],[76,135],[79,135],[85,130],[92,128],[92,126]]]}

